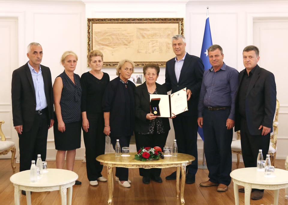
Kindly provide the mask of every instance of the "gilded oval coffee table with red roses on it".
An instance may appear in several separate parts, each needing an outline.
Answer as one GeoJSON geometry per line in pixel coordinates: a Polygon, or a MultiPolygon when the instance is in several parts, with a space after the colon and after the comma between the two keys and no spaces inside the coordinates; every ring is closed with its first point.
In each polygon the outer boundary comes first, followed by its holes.
{"type": "Polygon", "coordinates": [[[101,162],[101,164],[107,166],[108,171],[108,204],[112,203],[113,198],[113,169],[112,167],[124,167],[124,168],[168,168],[168,167],[177,167],[176,174],[176,196],[179,197],[180,189],[179,189],[179,180],[180,180],[180,167],[182,171],[181,175],[181,202],[184,201],[184,186],[185,186],[185,174],[186,174],[186,166],[190,165],[192,161],[195,160],[195,157],[178,153],[177,157],[165,157],[164,159],[159,160],[147,160],[145,162],[134,159],[134,155],[136,153],[130,153],[130,157],[122,157],[115,156],[115,153],[103,154],[96,158],[97,161],[101,162]]]}

